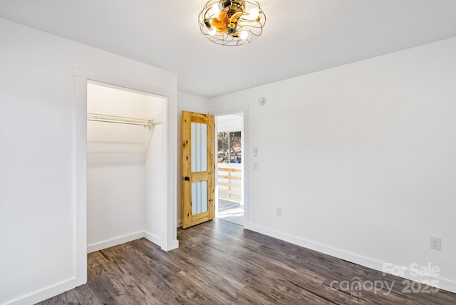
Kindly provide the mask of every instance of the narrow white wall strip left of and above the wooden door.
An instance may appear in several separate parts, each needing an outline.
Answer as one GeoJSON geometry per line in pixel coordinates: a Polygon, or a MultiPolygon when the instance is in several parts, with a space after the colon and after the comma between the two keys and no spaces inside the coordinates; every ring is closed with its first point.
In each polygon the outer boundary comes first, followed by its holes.
{"type": "Polygon", "coordinates": [[[177,95],[177,227],[182,226],[182,110],[207,113],[207,98],[188,93],[177,95]]]}

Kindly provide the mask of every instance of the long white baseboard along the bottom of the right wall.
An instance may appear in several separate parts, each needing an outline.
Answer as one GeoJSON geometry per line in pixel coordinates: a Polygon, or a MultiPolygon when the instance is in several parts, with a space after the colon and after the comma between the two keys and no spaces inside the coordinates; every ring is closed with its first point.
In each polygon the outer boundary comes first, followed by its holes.
{"type": "MultiPolygon", "coordinates": [[[[332,257],[337,257],[338,259],[343,259],[348,262],[352,262],[354,264],[359,264],[364,267],[368,267],[379,272],[386,272],[393,275],[398,275],[397,273],[388,272],[387,270],[383,270],[385,264],[387,262],[380,262],[375,259],[370,259],[368,257],[363,257],[358,254],[353,254],[351,252],[346,252],[341,249],[336,249],[333,247],[328,247],[324,244],[318,244],[316,242],[311,242],[310,240],[303,239],[301,237],[296,237],[291,234],[284,234],[282,232],[278,232],[272,229],[268,229],[266,227],[261,227],[257,224],[246,223],[244,224],[244,229],[249,229],[254,232],[258,232],[270,237],[274,237],[276,239],[281,239],[285,242],[291,242],[291,244],[297,244],[298,246],[312,249],[323,254],[331,255],[332,257]]],[[[452,281],[450,279],[445,279],[440,276],[423,276],[423,275],[416,275],[413,270],[404,269],[400,266],[391,266],[390,269],[394,269],[395,272],[398,272],[400,269],[400,277],[403,279],[410,279],[412,281],[418,281],[424,284],[430,284],[429,286],[435,286],[439,289],[444,289],[453,293],[456,293],[456,281],[452,281]]]]}

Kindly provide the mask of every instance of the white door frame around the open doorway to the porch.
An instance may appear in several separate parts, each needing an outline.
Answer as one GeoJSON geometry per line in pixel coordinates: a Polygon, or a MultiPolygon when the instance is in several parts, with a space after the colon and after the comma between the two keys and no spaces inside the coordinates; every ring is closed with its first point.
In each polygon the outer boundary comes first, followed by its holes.
{"type": "MultiPolygon", "coordinates": [[[[243,203],[244,203],[244,224],[243,227],[244,229],[248,229],[249,227],[249,106],[247,105],[246,107],[242,109],[232,109],[229,111],[212,111],[211,114],[216,117],[215,121],[215,137],[216,140],[214,141],[214,157],[215,157],[215,163],[217,164],[217,134],[218,134],[218,129],[217,129],[217,116],[221,115],[232,115],[236,113],[242,113],[243,115],[243,120],[242,120],[242,127],[243,127],[243,139],[244,143],[242,143],[242,197],[243,197],[243,203]]],[[[218,166],[215,167],[215,177],[219,175],[219,170],[218,166]]],[[[217,199],[217,205],[216,205],[216,213],[218,214],[218,209],[219,209],[219,190],[218,190],[218,179],[215,179],[215,195],[214,197],[217,199]]],[[[216,214],[216,215],[217,215],[216,214]]]]}

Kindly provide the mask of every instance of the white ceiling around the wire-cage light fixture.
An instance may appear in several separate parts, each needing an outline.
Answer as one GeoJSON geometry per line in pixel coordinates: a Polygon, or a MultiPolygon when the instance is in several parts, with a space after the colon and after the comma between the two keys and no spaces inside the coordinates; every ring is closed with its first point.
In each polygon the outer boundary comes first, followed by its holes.
{"type": "Polygon", "coordinates": [[[199,32],[205,2],[0,0],[0,17],[174,71],[206,98],[456,36],[456,0],[259,0],[263,35],[219,46],[199,32]]]}

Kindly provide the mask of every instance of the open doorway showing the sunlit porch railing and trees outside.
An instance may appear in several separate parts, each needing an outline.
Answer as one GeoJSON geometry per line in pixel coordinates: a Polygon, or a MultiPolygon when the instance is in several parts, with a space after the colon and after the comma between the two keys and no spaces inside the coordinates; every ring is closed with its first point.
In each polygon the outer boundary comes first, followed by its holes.
{"type": "Polygon", "coordinates": [[[216,117],[218,219],[244,225],[244,113],[216,117]]]}

